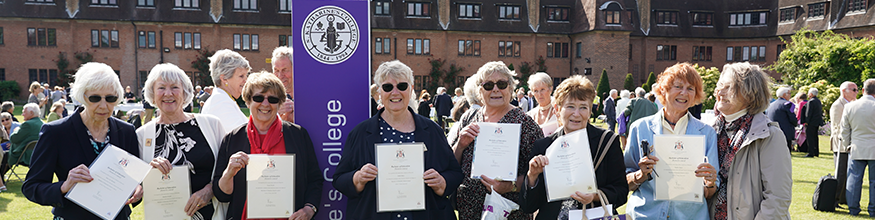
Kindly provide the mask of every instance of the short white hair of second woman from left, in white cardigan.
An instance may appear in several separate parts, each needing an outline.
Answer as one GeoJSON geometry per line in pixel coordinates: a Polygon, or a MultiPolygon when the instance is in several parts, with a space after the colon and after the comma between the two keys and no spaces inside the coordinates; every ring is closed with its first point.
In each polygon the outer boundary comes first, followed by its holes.
{"type": "Polygon", "coordinates": [[[188,78],[188,75],[185,74],[185,71],[180,69],[176,64],[172,63],[162,63],[155,65],[152,67],[152,70],[149,71],[149,76],[146,77],[146,85],[143,86],[145,92],[143,93],[143,98],[146,99],[146,102],[149,102],[152,106],[158,106],[155,104],[155,83],[158,80],[162,80],[168,84],[177,84],[182,87],[182,104],[183,106],[187,106],[191,104],[192,99],[194,98],[194,91],[191,86],[191,79],[188,78]]]}

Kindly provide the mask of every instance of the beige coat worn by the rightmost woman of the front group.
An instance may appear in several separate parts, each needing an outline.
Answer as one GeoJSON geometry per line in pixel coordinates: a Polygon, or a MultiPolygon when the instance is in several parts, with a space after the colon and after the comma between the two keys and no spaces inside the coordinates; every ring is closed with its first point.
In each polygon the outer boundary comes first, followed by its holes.
{"type": "MultiPolygon", "coordinates": [[[[754,115],[750,132],[729,167],[726,184],[728,219],[790,219],[792,165],[778,123],[765,114],[754,115]]],[[[712,219],[714,198],[708,200],[712,219]]]]}

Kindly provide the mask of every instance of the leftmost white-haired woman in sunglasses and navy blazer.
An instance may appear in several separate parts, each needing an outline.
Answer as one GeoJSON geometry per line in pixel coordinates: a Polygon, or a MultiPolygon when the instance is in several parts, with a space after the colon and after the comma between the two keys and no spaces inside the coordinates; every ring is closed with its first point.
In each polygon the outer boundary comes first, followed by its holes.
{"type": "MultiPolygon", "coordinates": [[[[68,117],[42,126],[21,191],[34,203],[54,206],[55,219],[100,219],[64,195],[76,183],[93,180],[88,165],[108,145],[134,156],[140,155],[140,149],[134,126],[111,117],[113,108],[121,102],[119,97],[124,94],[112,67],[86,63],[74,77],[70,97],[79,100],[82,107],[68,117]],[[58,182],[54,182],[55,176],[58,182]]],[[[137,187],[125,204],[139,201],[142,193],[136,192],[141,190],[137,187]]],[[[128,219],[130,215],[131,209],[125,205],[115,219],[128,219]]]]}

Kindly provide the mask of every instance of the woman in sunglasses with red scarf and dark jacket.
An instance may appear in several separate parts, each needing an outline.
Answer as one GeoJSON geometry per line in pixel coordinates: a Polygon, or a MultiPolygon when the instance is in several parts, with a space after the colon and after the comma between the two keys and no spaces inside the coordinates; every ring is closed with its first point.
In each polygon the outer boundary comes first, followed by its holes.
{"type": "Polygon", "coordinates": [[[242,92],[251,111],[248,123],[222,139],[213,173],[213,193],[219,201],[230,202],[226,219],[246,219],[249,154],[294,154],[297,207],[289,219],[313,218],[322,199],[322,172],[307,130],[277,115],[285,101],[283,82],[269,72],[253,73],[242,92]]]}

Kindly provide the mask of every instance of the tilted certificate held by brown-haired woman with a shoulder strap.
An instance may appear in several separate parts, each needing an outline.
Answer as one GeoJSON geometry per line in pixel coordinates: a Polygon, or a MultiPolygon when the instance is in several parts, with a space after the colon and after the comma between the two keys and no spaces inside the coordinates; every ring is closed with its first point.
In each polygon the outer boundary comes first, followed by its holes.
{"type": "Polygon", "coordinates": [[[544,167],[548,202],[568,199],[576,191],[597,192],[592,152],[585,129],[556,138],[544,156],[550,162],[544,167]]]}

